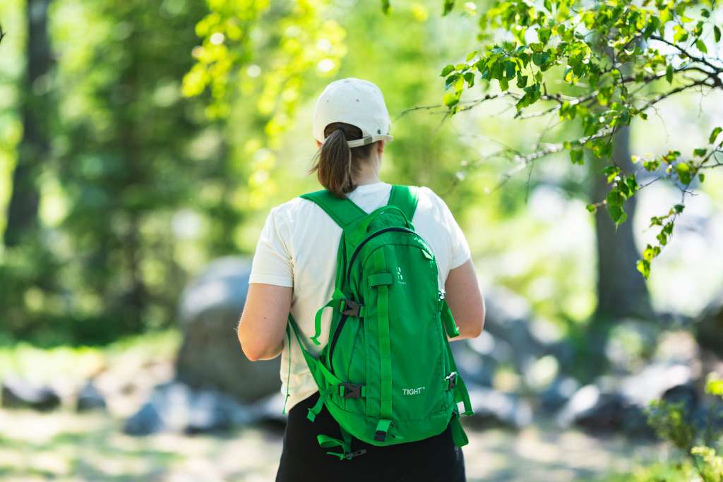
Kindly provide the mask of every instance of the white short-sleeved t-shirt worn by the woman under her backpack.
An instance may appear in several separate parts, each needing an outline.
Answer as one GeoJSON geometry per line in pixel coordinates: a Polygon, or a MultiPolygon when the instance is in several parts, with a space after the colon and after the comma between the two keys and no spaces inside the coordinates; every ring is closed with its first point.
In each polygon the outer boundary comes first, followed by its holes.
{"type": "MultiPolygon", "coordinates": [[[[389,201],[391,184],[382,181],[362,184],[347,193],[349,199],[366,212],[389,201]]],[[[445,202],[432,189],[420,187],[419,202],[412,224],[427,241],[437,259],[439,285],[444,288],[450,270],[470,257],[469,245],[445,202]]],[[[249,283],[294,288],[291,315],[303,332],[305,345],[317,355],[328,341],[331,310],[322,316],[319,341],[314,345],[314,317],[333,294],[336,254],[341,228],[314,202],[301,197],[273,207],[266,218],[256,247],[249,283]]],[[[291,338],[291,365],[288,338],[281,352],[281,392],[286,395],[286,410],[316,392],[317,385],[307,368],[299,344],[291,338]],[[288,392],[287,392],[288,390],[288,392]]]]}

